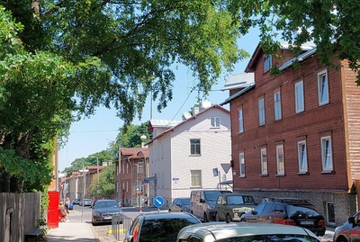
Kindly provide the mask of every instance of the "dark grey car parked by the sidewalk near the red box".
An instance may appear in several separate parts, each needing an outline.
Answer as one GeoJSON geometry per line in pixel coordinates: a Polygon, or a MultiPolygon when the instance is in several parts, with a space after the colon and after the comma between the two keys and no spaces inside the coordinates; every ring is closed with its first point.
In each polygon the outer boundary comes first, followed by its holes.
{"type": "Polygon", "coordinates": [[[99,200],[95,203],[92,212],[92,224],[111,223],[112,216],[123,214],[119,203],[115,200],[99,200]]]}

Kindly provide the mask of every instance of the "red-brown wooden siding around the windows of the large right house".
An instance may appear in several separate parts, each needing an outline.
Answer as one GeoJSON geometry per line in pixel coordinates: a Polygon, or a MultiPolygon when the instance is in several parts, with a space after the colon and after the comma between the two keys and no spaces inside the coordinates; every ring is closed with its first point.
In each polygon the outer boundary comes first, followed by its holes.
{"type": "Polygon", "coordinates": [[[340,72],[321,66],[318,58],[310,58],[302,66],[289,68],[281,76],[263,74],[262,62],[255,69],[256,88],[230,103],[232,155],[235,161],[234,189],[317,189],[348,191],[345,123],[340,72]],[[318,104],[320,71],[329,76],[329,103],[318,104]],[[305,111],[295,112],[294,85],[302,80],[305,111]],[[275,121],[275,90],[281,90],[282,116],[275,121]],[[257,101],[265,98],[266,125],[258,125],[257,101]],[[244,133],[238,133],[238,109],[243,109],[244,133]],[[331,136],[333,173],[322,173],[320,138],[331,136]],[[297,141],[306,140],[308,170],[298,172],[297,141]],[[276,144],[284,145],[285,175],[276,175],[276,144]],[[260,148],[267,148],[268,175],[260,175],[260,148]],[[246,177],[238,177],[238,153],[245,153],[246,177]]]}

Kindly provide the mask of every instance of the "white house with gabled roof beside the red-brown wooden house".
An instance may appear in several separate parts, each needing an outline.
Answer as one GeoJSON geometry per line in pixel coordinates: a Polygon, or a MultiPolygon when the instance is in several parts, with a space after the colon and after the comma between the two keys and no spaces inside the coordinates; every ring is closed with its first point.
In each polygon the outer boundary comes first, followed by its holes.
{"type": "Polygon", "coordinates": [[[230,164],[229,111],[204,101],[183,119],[175,125],[163,120],[148,123],[153,135],[147,143],[149,198],[163,197],[164,207],[176,197],[190,197],[194,189],[221,189],[220,182],[232,179],[226,174],[229,169],[221,169],[230,164]]]}

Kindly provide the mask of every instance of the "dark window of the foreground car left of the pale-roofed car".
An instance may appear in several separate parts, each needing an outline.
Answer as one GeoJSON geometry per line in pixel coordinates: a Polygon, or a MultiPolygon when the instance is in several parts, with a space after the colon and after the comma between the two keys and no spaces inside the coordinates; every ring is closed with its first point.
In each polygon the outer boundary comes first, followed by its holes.
{"type": "Polygon", "coordinates": [[[199,223],[199,220],[195,218],[144,220],[139,242],[175,242],[180,229],[195,223],[199,223]]]}

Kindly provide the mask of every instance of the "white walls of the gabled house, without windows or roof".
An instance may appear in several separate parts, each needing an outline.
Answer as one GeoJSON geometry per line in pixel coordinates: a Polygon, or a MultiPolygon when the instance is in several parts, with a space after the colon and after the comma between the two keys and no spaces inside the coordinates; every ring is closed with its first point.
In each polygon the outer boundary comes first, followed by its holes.
{"type": "MultiPolygon", "coordinates": [[[[150,186],[150,199],[162,196],[168,206],[175,197],[190,197],[192,189],[216,189],[220,179],[212,169],[219,169],[222,181],[225,172],[220,164],[231,160],[229,113],[210,108],[153,140],[148,148],[150,176],[157,175],[157,188],[150,186]],[[211,129],[211,117],[220,117],[220,128],[211,129]],[[190,156],[190,139],[201,139],[201,156],[190,156]],[[190,187],[191,170],[202,170],[202,187],[190,187]]],[[[226,180],[231,179],[229,171],[226,180]]]]}

